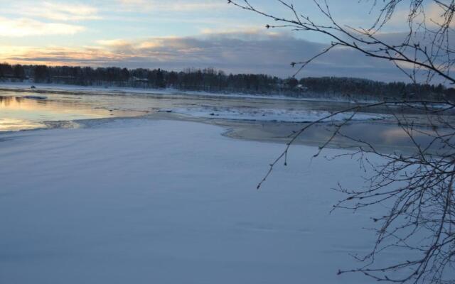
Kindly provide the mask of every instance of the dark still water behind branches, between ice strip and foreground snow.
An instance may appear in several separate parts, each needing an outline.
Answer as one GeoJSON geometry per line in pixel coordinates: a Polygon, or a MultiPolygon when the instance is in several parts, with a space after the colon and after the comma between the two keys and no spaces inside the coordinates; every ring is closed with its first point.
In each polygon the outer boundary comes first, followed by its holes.
{"type": "MultiPolygon", "coordinates": [[[[240,124],[233,125],[232,131],[227,135],[234,138],[245,138],[259,141],[289,141],[289,134],[299,131],[306,124],[240,124]]],[[[321,146],[324,141],[331,137],[334,131],[334,126],[326,124],[317,124],[307,129],[296,143],[301,143],[309,146],[321,146]]],[[[439,136],[446,136],[449,133],[454,133],[451,129],[438,129],[439,136]]],[[[330,147],[346,147],[353,148],[355,146],[363,146],[368,148],[367,144],[373,146],[376,150],[392,153],[414,153],[417,151],[417,145],[422,149],[431,147],[430,152],[449,151],[444,148],[441,141],[433,141],[437,133],[434,129],[425,126],[414,126],[412,131],[412,139],[402,127],[390,121],[356,121],[343,126],[341,135],[336,136],[330,147]],[[353,141],[354,138],[359,143],[353,141]],[[414,144],[415,143],[415,144],[414,144]]],[[[451,137],[454,140],[454,137],[451,137]]],[[[452,150],[450,150],[452,151],[452,150]]]]}

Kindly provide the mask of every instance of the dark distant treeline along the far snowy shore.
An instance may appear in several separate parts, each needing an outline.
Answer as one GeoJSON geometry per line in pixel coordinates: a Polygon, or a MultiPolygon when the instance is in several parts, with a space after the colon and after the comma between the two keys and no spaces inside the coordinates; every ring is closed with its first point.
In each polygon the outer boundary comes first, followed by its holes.
{"type": "Polygon", "coordinates": [[[343,99],[444,99],[454,98],[455,89],[442,84],[377,82],[350,77],[279,78],[264,74],[229,74],[213,68],[189,68],[181,72],[161,69],[10,65],[0,63],[0,81],[175,88],[205,92],[281,94],[290,97],[343,99]]]}

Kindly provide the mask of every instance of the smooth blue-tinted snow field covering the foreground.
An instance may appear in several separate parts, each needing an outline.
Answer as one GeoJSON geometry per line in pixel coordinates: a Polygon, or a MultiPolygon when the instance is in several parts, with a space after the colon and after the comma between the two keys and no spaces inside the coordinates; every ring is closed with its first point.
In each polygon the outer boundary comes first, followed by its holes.
{"type": "Polygon", "coordinates": [[[0,134],[0,283],[372,283],[336,275],[381,214],[329,214],[331,188],[361,182],[356,161],[295,146],[257,191],[284,146],[222,132],[117,119],[0,134]]]}

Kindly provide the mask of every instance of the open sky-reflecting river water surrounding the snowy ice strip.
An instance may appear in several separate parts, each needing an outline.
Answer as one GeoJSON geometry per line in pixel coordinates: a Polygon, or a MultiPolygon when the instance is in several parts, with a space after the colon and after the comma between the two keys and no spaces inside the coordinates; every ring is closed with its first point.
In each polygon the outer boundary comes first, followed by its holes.
{"type": "MultiPolygon", "coordinates": [[[[88,93],[59,93],[59,92],[14,92],[0,93],[0,131],[16,131],[21,129],[36,129],[50,125],[48,121],[73,121],[76,119],[97,119],[116,116],[138,116],[154,113],[159,109],[186,108],[251,108],[277,110],[321,110],[338,111],[352,107],[346,102],[316,102],[316,101],[288,101],[271,99],[245,99],[229,97],[203,97],[197,95],[178,94],[88,94],[88,93]],[[43,97],[45,96],[45,97],[43,97]]],[[[407,107],[377,107],[369,109],[373,114],[405,115],[423,131],[432,131],[425,126],[427,116],[414,108],[407,107]]],[[[449,119],[454,120],[451,112],[449,119]]],[[[154,114],[158,118],[182,119],[173,114],[154,114]],[[166,116],[168,115],[168,116],[166,116]]],[[[188,119],[188,118],[186,118],[188,119]]],[[[188,120],[191,120],[188,119],[188,120]]],[[[220,124],[234,129],[230,136],[253,140],[289,141],[292,131],[298,131],[304,124],[295,123],[261,123],[252,121],[217,121],[214,119],[193,119],[206,121],[211,124],[220,124]]],[[[455,124],[455,121],[452,121],[455,124]]],[[[61,125],[61,124],[58,124],[61,125]]],[[[299,137],[298,142],[306,145],[321,145],[331,136],[329,124],[319,124],[309,129],[299,137]]],[[[446,131],[441,129],[440,131],[446,131]]],[[[343,134],[372,143],[375,147],[387,151],[413,151],[410,138],[400,126],[391,121],[356,121],[343,127],[343,134]]],[[[431,141],[431,137],[422,133],[414,133],[417,143],[422,146],[431,141]]],[[[437,144],[435,144],[437,146],[437,144]]],[[[353,146],[353,142],[346,137],[338,136],[331,146],[353,146]]],[[[440,145],[439,145],[440,146],[440,145]]]]}

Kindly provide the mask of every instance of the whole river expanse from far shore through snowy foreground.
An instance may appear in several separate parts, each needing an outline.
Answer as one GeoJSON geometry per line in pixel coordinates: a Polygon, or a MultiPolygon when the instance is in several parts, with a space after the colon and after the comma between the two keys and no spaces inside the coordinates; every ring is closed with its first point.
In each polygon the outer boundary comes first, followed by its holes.
{"type": "MultiPolygon", "coordinates": [[[[255,190],[284,148],[269,141],[352,104],[4,90],[0,106],[0,283],[372,282],[337,275],[365,264],[352,257],[375,244],[363,228],[387,212],[329,214],[345,197],[332,190],[338,182],[360,188],[372,174],[347,150],[327,149],[342,156],[326,160],[296,145],[289,166],[255,190]],[[36,128],[48,129],[17,131],[36,128]]],[[[345,131],[409,147],[388,115],[373,109],[345,131]]],[[[320,145],[338,119],[299,144],[320,145]]],[[[393,248],[376,263],[415,258],[393,248]]]]}

